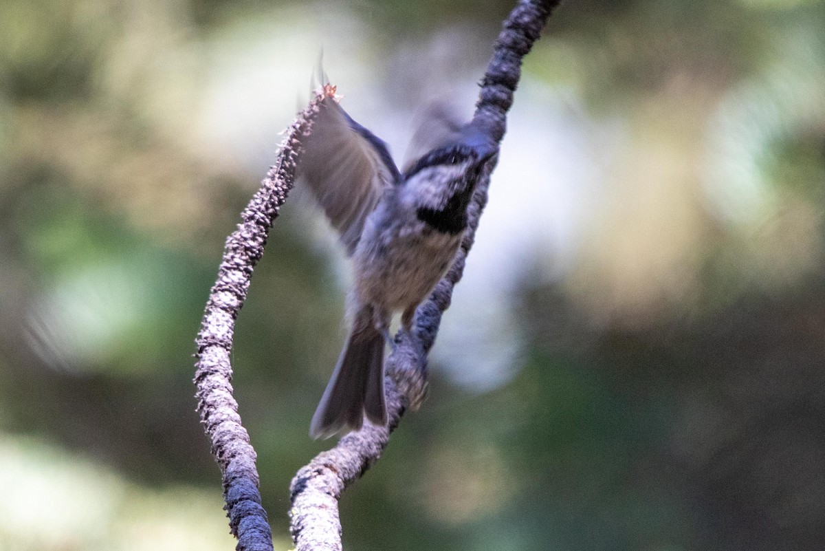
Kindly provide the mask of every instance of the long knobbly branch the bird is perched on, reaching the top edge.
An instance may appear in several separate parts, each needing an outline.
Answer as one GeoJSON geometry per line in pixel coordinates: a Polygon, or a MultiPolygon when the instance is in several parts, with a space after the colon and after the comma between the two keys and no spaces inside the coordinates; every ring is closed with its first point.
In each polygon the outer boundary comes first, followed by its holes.
{"type": "MultiPolygon", "coordinates": [[[[539,38],[550,12],[558,4],[559,0],[523,0],[504,22],[481,82],[474,115],[474,120],[482,123],[496,143],[506,130],[507,110],[512,106],[513,92],[521,77],[521,59],[539,38]]],[[[387,361],[389,376],[384,381],[388,426],[365,422],[361,431],[351,432],[332,450],[318,454],[292,480],[290,530],[295,551],[341,551],[338,498],[379,459],[404,412],[422,402],[427,389],[427,352],[436,339],[441,315],[450,306],[453,287],[464,273],[464,261],[487,203],[490,173],[496,161],[494,156],[479,176],[469,205],[469,228],[453,266],[418,308],[412,334],[399,332],[396,336],[395,349],[387,361]]]]}

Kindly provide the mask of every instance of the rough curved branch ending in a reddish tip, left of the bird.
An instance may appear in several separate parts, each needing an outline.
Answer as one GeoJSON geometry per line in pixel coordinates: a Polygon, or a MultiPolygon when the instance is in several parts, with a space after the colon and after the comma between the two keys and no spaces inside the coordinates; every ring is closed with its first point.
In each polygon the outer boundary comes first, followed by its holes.
{"type": "Polygon", "coordinates": [[[295,180],[301,139],[309,133],[323,94],[299,113],[281,144],[276,163],[243,210],[243,222],[226,240],[218,279],[210,291],[196,339],[197,410],[224,478],[229,528],[238,551],[271,551],[272,535],[258,492],[256,454],[232,395],[235,319],[247,298],[252,269],[263,255],[266,236],[295,180]]]}

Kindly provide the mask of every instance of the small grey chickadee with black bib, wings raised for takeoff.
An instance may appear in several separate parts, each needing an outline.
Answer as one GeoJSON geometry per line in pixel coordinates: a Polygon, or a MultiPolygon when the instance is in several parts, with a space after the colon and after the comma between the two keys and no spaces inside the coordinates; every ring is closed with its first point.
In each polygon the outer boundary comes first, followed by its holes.
{"type": "Polygon", "coordinates": [[[341,235],[355,267],[347,299],[351,332],[312,419],[309,435],[386,425],[384,341],[392,315],[410,330],[415,310],[451,266],[467,228],[467,206],[496,142],[479,125],[441,113],[413,138],[424,152],[399,172],[384,142],[323,100],[298,174],[341,235]]]}

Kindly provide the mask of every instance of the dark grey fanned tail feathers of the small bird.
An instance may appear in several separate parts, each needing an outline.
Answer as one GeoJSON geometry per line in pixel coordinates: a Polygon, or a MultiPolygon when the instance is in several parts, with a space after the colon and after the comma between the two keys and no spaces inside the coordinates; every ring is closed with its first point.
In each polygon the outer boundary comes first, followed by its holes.
{"type": "Polygon", "coordinates": [[[375,424],[387,423],[384,336],[372,323],[369,308],[361,310],[354,320],[347,345],[315,410],[309,436],[328,438],[345,428],[356,431],[364,414],[375,424]]]}

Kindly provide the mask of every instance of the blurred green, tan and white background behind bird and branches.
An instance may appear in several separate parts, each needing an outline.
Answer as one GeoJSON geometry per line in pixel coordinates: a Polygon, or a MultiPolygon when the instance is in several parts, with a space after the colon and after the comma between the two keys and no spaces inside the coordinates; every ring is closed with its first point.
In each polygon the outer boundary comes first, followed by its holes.
{"type": "MultiPolygon", "coordinates": [[[[233,549],[194,412],[225,236],[323,66],[403,159],[500,0],[0,3],[0,549],[233,549]]],[[[822,549],[825,2],[570,0],[347,549],[822,549]]],[[[276,549],[348,268],[300,191],[233,365],[276,549]]]]}

